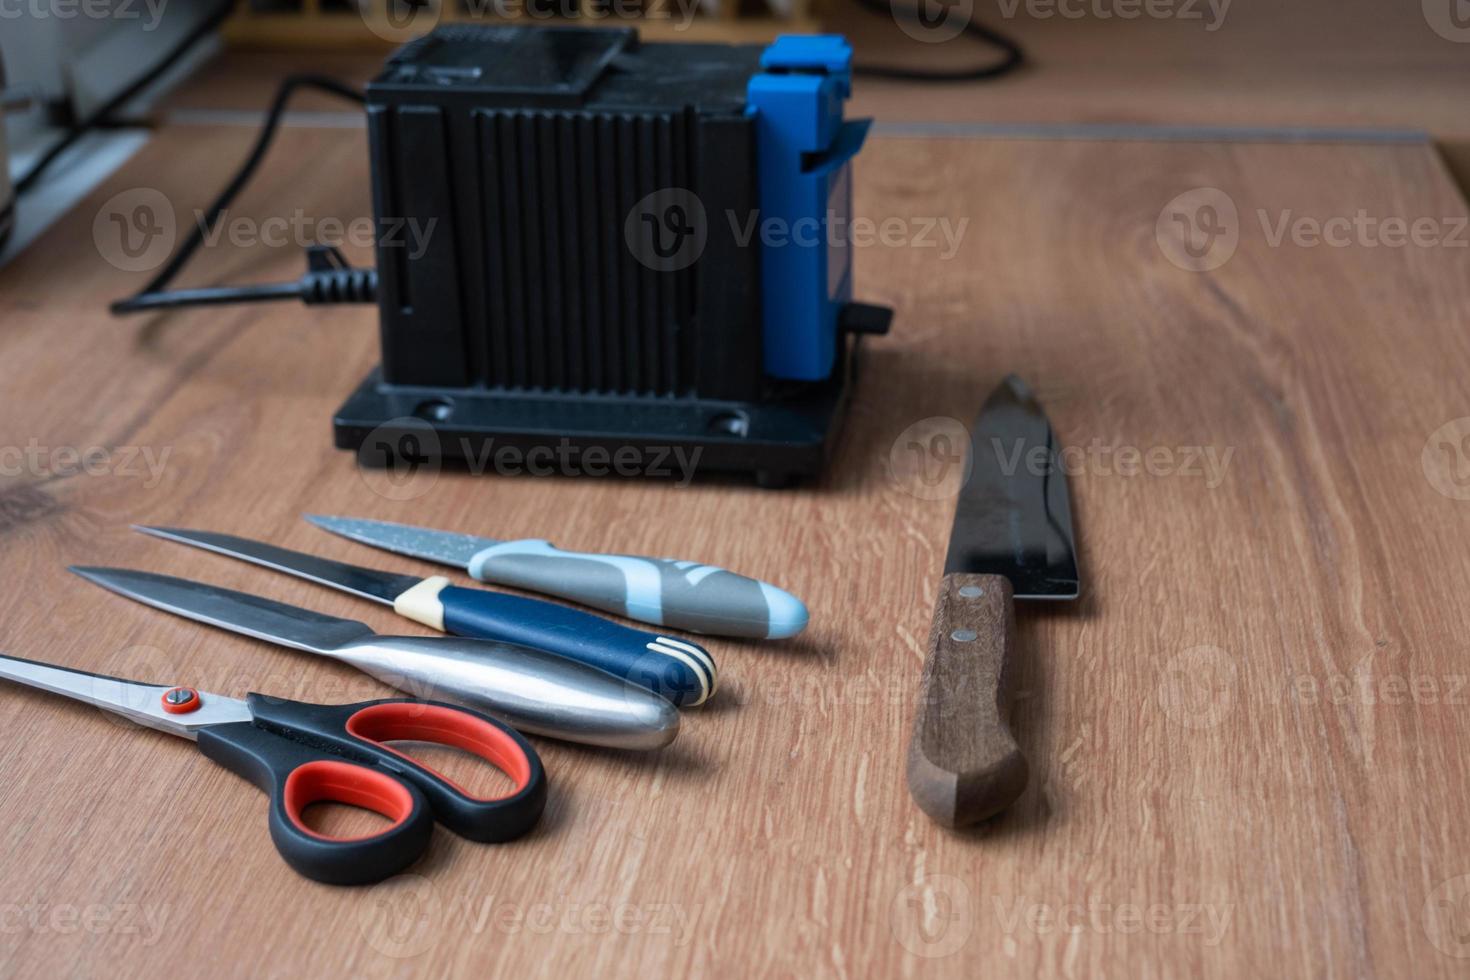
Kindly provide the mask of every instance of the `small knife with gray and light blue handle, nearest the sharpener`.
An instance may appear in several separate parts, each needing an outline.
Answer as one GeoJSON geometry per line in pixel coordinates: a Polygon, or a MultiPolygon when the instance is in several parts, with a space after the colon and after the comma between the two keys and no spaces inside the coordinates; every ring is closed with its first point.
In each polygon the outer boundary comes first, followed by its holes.
{"type": "Polygon", "coordinates": [[[385,520],[306,519],[365,545],[463,569],[481,582],[656,626],[747,639],[782,639],[807,626],[807,607],[789,592],[695,561],[563,551],[541,539],[495,541],[385,520]]]}

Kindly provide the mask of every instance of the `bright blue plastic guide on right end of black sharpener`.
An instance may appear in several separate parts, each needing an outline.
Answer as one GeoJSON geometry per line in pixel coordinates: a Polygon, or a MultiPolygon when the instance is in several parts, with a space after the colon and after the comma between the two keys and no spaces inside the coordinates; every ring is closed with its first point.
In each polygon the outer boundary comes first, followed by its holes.
{"type": "Polygon", "coordinates": [[[853,47],[835,34],[782,35],[750,79],[760,179],[764,366],[772,378],[832,373],[838,314],[853,300],[851,160],[870,119],[844,120],[853,47]]]}

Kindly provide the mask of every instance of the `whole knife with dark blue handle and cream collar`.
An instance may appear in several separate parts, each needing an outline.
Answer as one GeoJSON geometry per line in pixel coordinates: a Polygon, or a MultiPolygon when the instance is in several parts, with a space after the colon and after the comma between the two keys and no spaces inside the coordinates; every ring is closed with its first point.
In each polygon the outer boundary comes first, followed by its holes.
{"type": "Polygon", "coordinates": [[[135,530],[382,602],[398,616],[440,632],[531,646],[576,660],[663,695],[678,707],[703,704],[714,693],[714,661],[701,646],[556,602],[466,589],[451,585],[444,576],[420,579],[363,569],[209,530],[143,526],[135,526],[135,530]]]}

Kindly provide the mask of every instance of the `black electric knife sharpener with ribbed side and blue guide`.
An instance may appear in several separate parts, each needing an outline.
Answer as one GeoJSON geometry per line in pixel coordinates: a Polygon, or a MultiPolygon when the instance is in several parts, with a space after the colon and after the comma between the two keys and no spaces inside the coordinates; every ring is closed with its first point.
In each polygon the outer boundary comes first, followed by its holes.
{"type": "Polygon", "coordinates": [[[551,26],[400,48],[368,87],[382,364],[337,445],[817,475],[891,319],[853,303],[851,59],[551,26]]]}

